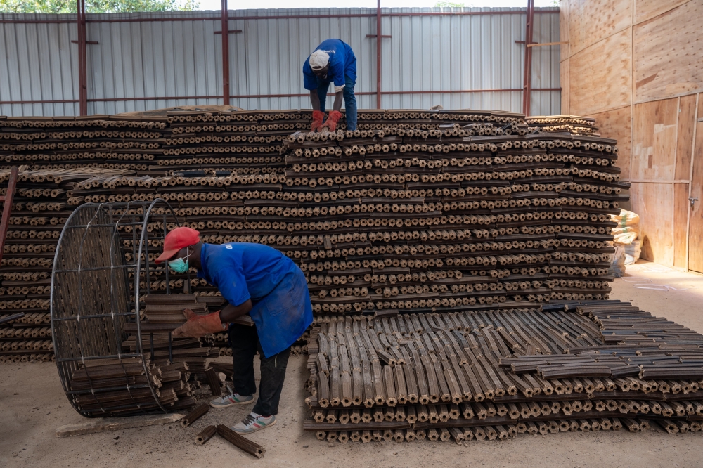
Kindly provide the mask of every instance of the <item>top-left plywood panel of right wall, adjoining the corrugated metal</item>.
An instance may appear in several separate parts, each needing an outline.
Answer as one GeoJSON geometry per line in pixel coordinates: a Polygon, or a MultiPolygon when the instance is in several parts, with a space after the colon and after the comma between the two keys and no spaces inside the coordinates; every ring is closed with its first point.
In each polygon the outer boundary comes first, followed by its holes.
{"type": "Polygon", "coordinates": [[[569,46],[572,55],[629,28],[631,16],[629,0],[570,0],[569,46]]]}

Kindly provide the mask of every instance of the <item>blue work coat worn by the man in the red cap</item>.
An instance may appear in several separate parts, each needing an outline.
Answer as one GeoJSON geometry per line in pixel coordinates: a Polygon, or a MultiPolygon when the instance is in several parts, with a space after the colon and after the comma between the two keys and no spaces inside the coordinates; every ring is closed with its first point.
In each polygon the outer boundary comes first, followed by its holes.
{"type": "Polygon", "coordinates": [[[292,345],[312,323],[305,275],[278,250],[259,244],[205,244],[198,278],[217,286],[233,306],[252,299],[250,316],[257,325],[266,358],[292,345]]]}

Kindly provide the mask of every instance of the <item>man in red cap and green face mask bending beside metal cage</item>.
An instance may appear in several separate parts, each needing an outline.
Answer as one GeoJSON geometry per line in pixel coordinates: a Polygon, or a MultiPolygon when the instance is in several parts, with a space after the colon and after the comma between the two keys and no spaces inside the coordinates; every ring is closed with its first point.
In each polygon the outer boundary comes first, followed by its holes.
{"type": "Polygon", "coordinates": [[[233,320],[250,314],[254,327],[234,323],[228,327],[233,389],[210,402],[214,408],[224,408],[254,400],[254,355],[258,351],[259,398],[250,415],[232,427],[249,434],[276,424],[290,346],[312,323],[307,282],[300,268],[276,249],[243,242],[205,244],[199,235],[187,227],[172,230],[156,263],[168,261],[176,273],[197,268],[198,278],[217,286],[228,304],[205,316],[183,311],[188,321],[176,328],[173,336],[198,338],[224,332],[233,320]]]}

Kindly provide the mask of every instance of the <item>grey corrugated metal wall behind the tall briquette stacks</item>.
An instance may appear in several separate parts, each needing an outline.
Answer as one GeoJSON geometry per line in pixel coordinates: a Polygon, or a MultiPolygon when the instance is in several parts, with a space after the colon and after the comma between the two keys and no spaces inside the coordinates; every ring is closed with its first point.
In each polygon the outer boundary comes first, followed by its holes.
{"type": "MultiPolygon", "coordinates": [[[[382,9],[382,34],[391,36],[382,39],[382,108],[439,104],[520,112],[524,44],[515,41],[524,41],[524,8],[456,11],[484,13],[382,9]],[[512,91],[479,92],[498,89],[512,91]]],[[[534,41],[559,41],[558,13],[535,13],[534,41]]],[[[236,17],[229,29],[241,30],[229,35],[232,105],[309,108],[302,63],[323,39],[338,37],[356,54],[359,108],[376,107],[376,39],[366,37],[376,33],[375,8],[238,10],[229,16],[236,17]]],[[[87,40],[97,42],[87,45],[89,114],[221,103],[219,11],[88,15],[88,21],[87,40]]],[[[3,14],[0,32],[0,115],[77,114],[75,15],[3,14]],[[37,103],[65,100],[75,102],[37,103]]],[[[533,56],[533,88],[558,89],[559,47],[535,48],[533,56]]],[[[558,114],[560,91],[533,91],[531,110],[558,114]]]]}

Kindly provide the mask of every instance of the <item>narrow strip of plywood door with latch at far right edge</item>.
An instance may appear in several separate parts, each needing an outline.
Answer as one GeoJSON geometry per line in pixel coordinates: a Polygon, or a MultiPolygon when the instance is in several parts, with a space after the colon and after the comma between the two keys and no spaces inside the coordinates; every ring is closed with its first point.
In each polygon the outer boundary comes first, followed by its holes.
{"type": "MultiPolygon", "coordinates": [[[[700,103],[698,108],[700,108],[700,103]]],[[[690,212],[688,268],[703,273],[703,122],[698,122],[696,129],[691,196],[698,197],[698,201],[695,202],[690,212]]]]}

